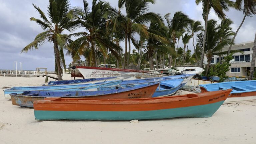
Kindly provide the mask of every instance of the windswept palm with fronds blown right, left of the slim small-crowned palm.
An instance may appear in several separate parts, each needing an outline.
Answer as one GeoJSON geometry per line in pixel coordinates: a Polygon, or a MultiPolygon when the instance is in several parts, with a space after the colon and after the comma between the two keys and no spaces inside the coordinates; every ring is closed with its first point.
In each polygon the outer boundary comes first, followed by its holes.
{"type": "MultiPolygon", "coordinates": [[[[186,28],[187,25],[191,22],[191,19],[181,11],[177,11],[174,13],[173,18],[170,19],[170,13],[167,13],[165,19],[168,24],[168,38],[172,42],[173,48],[175,49],[175,43],[178,36],[180,36],[180,32],[182,29],[186,28]]],[[[169,68],[171,67],[172,55],[169,57],[169,68]]]]}

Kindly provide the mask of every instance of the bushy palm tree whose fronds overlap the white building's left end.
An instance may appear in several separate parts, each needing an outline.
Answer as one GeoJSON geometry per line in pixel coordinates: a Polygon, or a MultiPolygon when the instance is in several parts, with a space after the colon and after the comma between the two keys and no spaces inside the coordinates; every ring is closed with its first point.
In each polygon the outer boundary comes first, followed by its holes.
{"type": "MultiPolygon", "coordinates": [[[[226,55],[227,51],[220,52],[225,46],[228,46],[232,43],[231,37],[225,37],[225,39],[221,38],[225,35],[225,32],[221,30],[221,25],[217,25],[217,21],[209,20],[207,24],[207,35],[206,35],[206,43],[205,43],[205,51],[204,55],[207,58],[207,67],[205,71],[205,75],[207,76],[210,62],[214,55],[226,55]]],[[[199,43],[199,47],[202,49],[203,47],[203,33],[197,34],[197,42],[199,43]]],[[[232,52],[240,52],[234,50],[232,52]]]]}

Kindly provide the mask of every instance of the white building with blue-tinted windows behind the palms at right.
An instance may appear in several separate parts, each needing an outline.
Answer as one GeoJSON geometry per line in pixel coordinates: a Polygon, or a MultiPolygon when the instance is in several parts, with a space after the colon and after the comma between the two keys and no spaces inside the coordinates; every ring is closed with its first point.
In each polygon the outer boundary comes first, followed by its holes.
{"type": "MultiPolygon", "coordinates": [[[[229,67],[229,72],[227,72],[227,76],[248,76],[248,72],[250,71],[251,61],[252,61],[252,51],[253,51],[253,43],[254,41],[238,43],[232,46],[231,50],[240,50],[242,53],[234,53],[233,59],[231,60],[229,67]]],[[[229,46],[223,48],[222,51],[228,51],[229,46]]],[[[222,57],[223,58],[223,57],[222,57]]],[[[212,57],[211,65],[219,62],[219,56],[214,55],[212,57]]],[[[204,57],[204,65],[207,66],[207,59],[204,57]]]]}

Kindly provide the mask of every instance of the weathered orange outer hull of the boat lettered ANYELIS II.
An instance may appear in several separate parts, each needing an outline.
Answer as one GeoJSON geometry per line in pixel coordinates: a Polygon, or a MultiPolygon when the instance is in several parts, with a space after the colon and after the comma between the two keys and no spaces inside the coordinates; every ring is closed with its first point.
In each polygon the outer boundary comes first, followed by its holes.
{"type": "MultiPolygon", "coordinates": [[[[158,84],[155,85],[149,85],[137,89],[132,89],[132,90],[127,90],[118,92],[117,91],[104,91],[101,92],[99,95],[90,95],[90,92],[80,92],[84,93],[84,96],[77,94],[78,96],[63,96],[62,93],[58,96],[57,94],[55,96],[52,96],[51,93],[54,92],[49,92],[45,96],[24,96],[24,95],[17,95],[17,94],[10,94],[11,95],[11,100],[13,105],[18,105],[18,106],[25,106],[25,107],[33,107],[33,102],[37,100],[44,100],[46,97],[72,97],[72,98],[87,98],[87,99],[134,99],[134,98],[151,98],[153,93],[155,92],[156,88],[158,87],[158,84]],[[105,94],[102,94],[105,93],[105,94]],[[107,94],[109,93],[109,94],[107,94]],[[62,96],[61,96],[62,94],[62,96]],[[86,95],[87,94],[87,95],[86,95]],[[80,95],[80,96],[79,96],[80,95]]],[[[69,94],[72,92],[66,92],[65,94],[69,94]]],[[[79,92],[76,92],[79,93],[79,92]]],[[[95,92],[92,92],[95,94],[95,92]]]]}

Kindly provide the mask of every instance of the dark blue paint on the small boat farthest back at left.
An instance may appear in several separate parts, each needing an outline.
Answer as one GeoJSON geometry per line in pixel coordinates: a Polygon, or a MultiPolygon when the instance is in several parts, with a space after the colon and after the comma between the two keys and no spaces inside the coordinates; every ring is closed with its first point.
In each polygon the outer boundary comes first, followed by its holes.
{"type": "Polygon", "coordinates": [[[117,77],[107,77],[107,78],[90,78],[90,79],[78,79],[78,80],[62,80],[62,81],[50,81],[48,85],[63,85],[63,84],[76,84],[76,83],[85,83],[99,80],[108,80],[117,77]]]}

